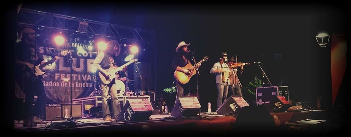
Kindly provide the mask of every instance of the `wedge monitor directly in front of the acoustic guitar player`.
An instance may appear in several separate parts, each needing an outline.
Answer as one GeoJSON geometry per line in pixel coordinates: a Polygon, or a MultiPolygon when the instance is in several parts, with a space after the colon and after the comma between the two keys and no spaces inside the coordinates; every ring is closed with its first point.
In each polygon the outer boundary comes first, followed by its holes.
{"type": "Polygon", "coordinates": [[[172,117],[193,117],[197,116],[201,111],[201,105],[197,97],[194,96],[180,96],[177,99],[176,105],[171,111],[172,117]]]}

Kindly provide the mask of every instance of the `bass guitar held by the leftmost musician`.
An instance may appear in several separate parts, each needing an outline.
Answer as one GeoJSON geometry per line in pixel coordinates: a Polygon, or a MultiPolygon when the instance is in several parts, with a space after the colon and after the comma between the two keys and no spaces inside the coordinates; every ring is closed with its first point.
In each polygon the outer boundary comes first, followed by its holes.
{"type": "MultiPolygon", "coordinates": [[[[64,51],[61,51],[61,55],[62,56],[65,56],[69,53],[68,50],[64,50],[64,51]]],[[[34,66],[34,71],[33,69],[29,68],[28,66],[24,66],[22,68],[22,71],[24,73],[24,76],[27,77],[27,78],[35,78],[35,77],[38,77],[38,76],[41,76],[41,75],[44,75],[45,74],[45,71],[42,70],[45,66],[47,66],[48,64],[52,64],[56,61],[55,58],[53,58],[52,60],[49,60],[43,64],[39,64],[37,66],[34,66]]]]}

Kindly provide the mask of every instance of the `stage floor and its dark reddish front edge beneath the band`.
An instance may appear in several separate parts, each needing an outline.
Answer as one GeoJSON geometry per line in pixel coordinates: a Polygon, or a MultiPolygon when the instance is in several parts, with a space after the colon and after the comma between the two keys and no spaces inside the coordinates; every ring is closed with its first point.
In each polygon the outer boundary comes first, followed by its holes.
{"type": "MultiPolygon", "coordinates": [[[[311,110],[302,112],[280,112],[270,113],[276,123],[276,129],[273,131],[289,132],[289,122],[300,121],[304,119],[326,120],[328,110],[311,110]]],[[[15,131],[17,133],[40,133],[41,135],[48,134],[100,134],[101,132],[116,133],[116,134],[168,134],[174,133],[190,133],[190,134],[227,134],[236,132],[236,118],[233,116],[217,115],[216,113],[201,113],[196,117],[174,118],[170,115],[151,115],[150,119],[145,122],[106,122],[102,118],[77,119],[84,124],[77,122],[78,127],[49,129],[48,124],[42,124],[29,127],[23,127],[23,121],[15,121],[15,131]],[[46,127],[45,127],[46,126],[46,127]],[[181,131],[181,132],[179,132],[181,131]]],[[[53,121],[62,122],[62,121],[53,121]]],[[[247,127],[250,129],[250,127],[247,127]]],[[[255,132],[252,132],[256,134],[255,132]]]]}

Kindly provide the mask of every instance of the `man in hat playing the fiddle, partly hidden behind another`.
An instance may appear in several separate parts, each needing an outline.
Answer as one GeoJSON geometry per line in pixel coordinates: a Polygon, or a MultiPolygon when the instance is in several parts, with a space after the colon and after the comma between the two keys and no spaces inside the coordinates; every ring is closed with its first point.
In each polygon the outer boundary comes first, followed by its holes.
{"type": "Polygon", "coordinates": [[[229,61],[228,61],[229,68],[230,68],[230,76],[229,77],[230,77],[230,81],[232,82],[229,85],[229,93],[231,93],[232,95],[243,96],[243,94],[241,94],[241,87],[239,85],[239,80],[238,80],[238,77],[237,77],[238,75],[241,74],[242,71],[237,73],[238,69],[236,67],[233,67],[233,68],[231,67],[231,66],[235,66],[235,62],[236,62],[236,60],[234,59],[234,56],[231,56],[229,61]],[[234,73],[236,73],[237,75],[234,75],[234,73]],[[234,94],[234,91],[235,91],[236,94],[234,94]]]}

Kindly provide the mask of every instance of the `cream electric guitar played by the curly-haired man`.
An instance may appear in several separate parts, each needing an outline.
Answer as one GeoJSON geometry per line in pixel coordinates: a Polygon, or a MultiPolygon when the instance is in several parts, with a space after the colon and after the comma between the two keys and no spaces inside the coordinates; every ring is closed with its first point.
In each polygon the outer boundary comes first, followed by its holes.
{"type": "Polygon", "coordinates": [[[99,74],[99,78],[100,78],[101,82],[104,84],[110,84],[114,78],[118,77],[118,75],[117,75],[118,71],[122,71],[124,66],[128,66],[129,64],[131,64],[135,61],[138,61],[138,59],[133,59],[133,60],[129,61],[128,63],[125,63],[124,65],[122,65],[123,67],[122,66],[121,67],[111,66],[110,68],[106,69],[106,71],[107,71],[106,75],[110,74],[110,76],[106,76],[104,73],[99,72],[98,74],[99,74]]]}

